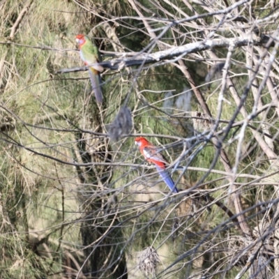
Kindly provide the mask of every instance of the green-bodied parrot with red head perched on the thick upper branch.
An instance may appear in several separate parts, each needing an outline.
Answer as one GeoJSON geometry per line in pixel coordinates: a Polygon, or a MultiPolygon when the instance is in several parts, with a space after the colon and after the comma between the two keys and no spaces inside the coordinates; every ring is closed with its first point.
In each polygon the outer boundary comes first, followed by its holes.
{"type": "Polygon", "coordinates": [[[91,42],[91,40],[82,34],[78,34],[75,37],[75,40],[78,43],[79,49],[80,49],[80,57],[82,58],[82,61],[84,61],[84,64],[89,67],[89,77],[92,84],[92,89],[95,93],[96,101],[97,103],[102,103],[103,101],[103,95],[102,95],[102,89],[101,89],[101,80],[100,80],[100,73],[103,72],[104,68],[100,65],[93,65],[95,63],[99,63],[99,52],[98,47],[94,43],[91,42]]]}

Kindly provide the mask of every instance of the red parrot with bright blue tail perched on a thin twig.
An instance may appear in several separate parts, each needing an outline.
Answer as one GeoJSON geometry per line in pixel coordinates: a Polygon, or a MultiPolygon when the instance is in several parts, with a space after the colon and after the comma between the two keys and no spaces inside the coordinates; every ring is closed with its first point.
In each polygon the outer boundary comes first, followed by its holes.
{"type": "Polygon", "coordinates": [[[153,163],[156,165],[156,169],[158,170],[160,176],[163,178],[163,181],[167,184],[167,187],[173,193],[179,193],[177,188],[174,186],[175,183],[172,180],[172,177],[166,170],[167,165],[169,163],[164,158],[164,156],[159,152],[159,148],[151,144],[144,137],[136,137],[135,144],[137,144],[140,148],[140,153],[144,156],[145,160],[149,163],[153,163]]]}

